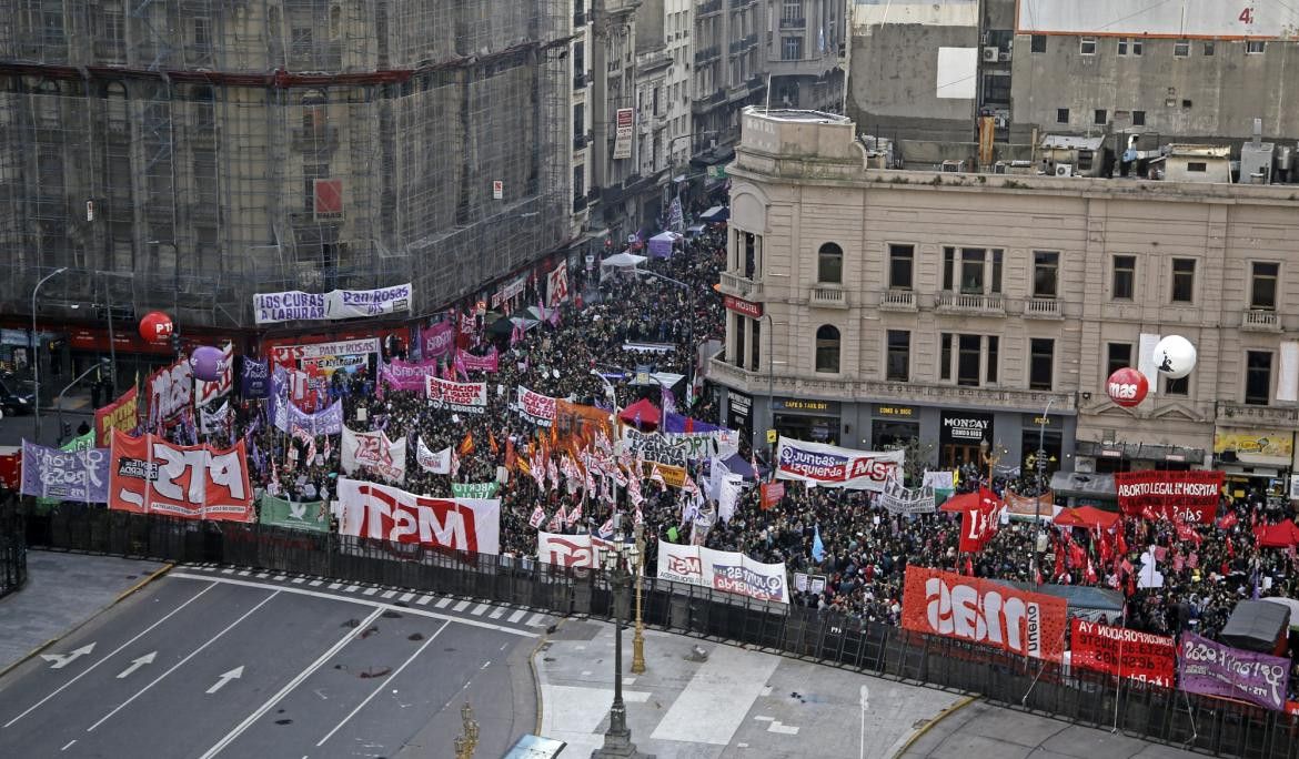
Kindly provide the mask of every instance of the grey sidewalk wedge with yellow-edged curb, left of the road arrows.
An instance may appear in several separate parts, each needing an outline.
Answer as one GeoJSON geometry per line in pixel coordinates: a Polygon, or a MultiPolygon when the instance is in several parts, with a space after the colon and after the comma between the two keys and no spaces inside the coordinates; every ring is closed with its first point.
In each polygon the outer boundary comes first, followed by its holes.
{"type": "Polygon", "coordinates": [[[165,564],[27,551],[27,584],[0,599],[0,671],[110,606],[165,564]]]}

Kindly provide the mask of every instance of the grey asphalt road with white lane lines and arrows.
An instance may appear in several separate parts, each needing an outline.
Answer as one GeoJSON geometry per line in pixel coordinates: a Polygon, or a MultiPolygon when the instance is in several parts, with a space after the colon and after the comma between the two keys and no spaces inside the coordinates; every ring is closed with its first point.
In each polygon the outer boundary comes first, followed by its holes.
{"type": "Polygon", "coordinates": [[[481,756],[535,729],[552,620],[326,580],[181,568],[0,680],[0,756],[481,756]]]}

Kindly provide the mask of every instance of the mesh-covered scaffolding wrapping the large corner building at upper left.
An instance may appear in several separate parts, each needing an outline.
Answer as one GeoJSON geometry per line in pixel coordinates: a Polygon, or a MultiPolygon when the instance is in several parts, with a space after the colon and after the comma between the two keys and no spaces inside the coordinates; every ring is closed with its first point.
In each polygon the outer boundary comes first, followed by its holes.
{"type": "Polygon", "coordinates": [[[565,0],[0,4],[0,313],[251,328],[256,292],[414,284],[568,235],[565,0]]]}

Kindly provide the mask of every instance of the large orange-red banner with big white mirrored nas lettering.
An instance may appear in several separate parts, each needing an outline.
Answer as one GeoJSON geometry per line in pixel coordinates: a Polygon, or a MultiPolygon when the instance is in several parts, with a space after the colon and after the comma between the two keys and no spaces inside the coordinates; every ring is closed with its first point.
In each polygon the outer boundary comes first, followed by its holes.
{"type": "Polygon", "coordinates": [[[908,566],[902,625],[1059,662],[1064,654],[1065,608],[1064,598],[1055,596],[908,566]]]}

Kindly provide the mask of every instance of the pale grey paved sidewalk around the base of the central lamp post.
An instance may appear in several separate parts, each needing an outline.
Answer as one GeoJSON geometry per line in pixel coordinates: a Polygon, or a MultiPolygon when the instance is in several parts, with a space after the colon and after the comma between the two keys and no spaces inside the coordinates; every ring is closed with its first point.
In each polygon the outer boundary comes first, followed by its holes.
{"type": "MultiPolygon", "coordinates": [[[[646,631],[644,675],[631,675],[624,631],[631,740],[657,759],[892,756],[963,697],[774,654],[646,631]],[[705,662],[690,660],[695,646],[705,662]]],[[[542,734],[590,756],[613,701],[613,625],[569,619],[534,657],[542,734]]]]}

